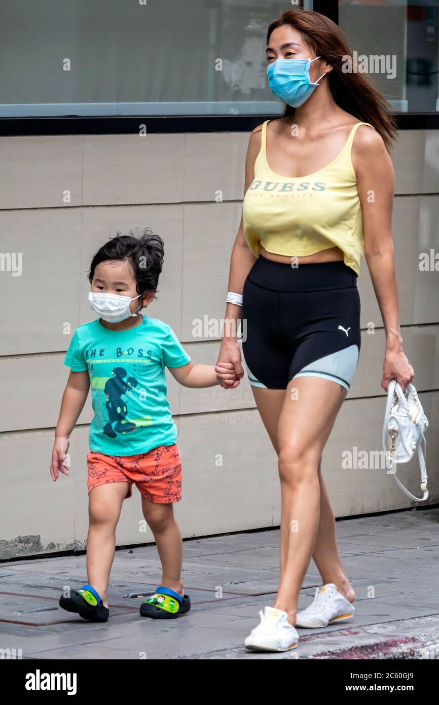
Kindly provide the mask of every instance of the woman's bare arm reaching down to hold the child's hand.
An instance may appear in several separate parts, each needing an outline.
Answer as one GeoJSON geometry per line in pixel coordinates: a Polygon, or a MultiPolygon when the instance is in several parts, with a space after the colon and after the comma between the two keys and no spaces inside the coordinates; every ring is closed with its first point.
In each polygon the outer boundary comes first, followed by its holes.
{"type": "MultiPolygon", "coordinates": [[[[247,148],[247,157],[245,159],[245,183],[244,193],[247,192],[249,185],[254,180],[254,162],[261,149],[261,128],[254,128],[249,138],[249,146],[247,148]]],[[[233,245],[232,256],[230,257],[230,271],[228,278],[228,290],[235,294],[242,294],[244,282],[247,274],[256,262],[256,257],[252,255],[244,237],[244,225],[240,222],[240,228],[237,231],[235,244],[233,245]]],[[[221,338],[221,348],[218,355],[218,363],[231,362],[235,369],[237,379],[235,381],[227,381],[218,376],[219,384],[225,389],[234,389],[240,384],[244,370],[241,364],[241,350],[237,344],[237,326],[241,320],[241,307],[237,304],[228,303],[225,307],[224,328],[221,338]]]]}

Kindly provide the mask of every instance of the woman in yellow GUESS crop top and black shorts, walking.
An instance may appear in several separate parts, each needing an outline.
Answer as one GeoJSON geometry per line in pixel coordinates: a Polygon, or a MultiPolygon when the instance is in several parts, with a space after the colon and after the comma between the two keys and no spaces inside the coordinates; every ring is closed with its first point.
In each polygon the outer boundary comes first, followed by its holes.
{"type": "Polygon", "coordinates": [[[395,118],[363,74],[343,70],[352,54],[321,14],[283,13],[268,27],[266,51],[269,85],[286,107],[249,140],[218,362],[233,362],[237,379],[222,386],[237,386],[244,372],[233,333],[245,319],[247,372],[282,493],[278,594],[245,646],[286,651],[297,646],[295,625],[354,614],[321,455],[357,366],[363,252],[385,326],[381,386],[395,378],[405,390],[414,371],[402,350],[391,235],[395,118]],[[311,556],[323,587],[297,617],[311,556]]]}

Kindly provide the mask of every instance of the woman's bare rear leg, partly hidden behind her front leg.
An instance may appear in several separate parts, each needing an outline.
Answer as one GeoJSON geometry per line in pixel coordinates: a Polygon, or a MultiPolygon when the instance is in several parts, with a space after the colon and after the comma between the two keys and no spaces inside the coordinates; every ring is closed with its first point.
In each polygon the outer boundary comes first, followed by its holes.
{"type": "MultiPolygon", "coordinates": [[[[296,384],[293,386],[297,387],[296,384]]],[[[256,386],[252,386],[252,391],[262,422],[264,423],[271,443],[273,443],[273,448],[276,450],[277,455],[279,455],[278,424],[280,412],[282,411],[285,400],[285,391],[279,389],[264,389],[256,386]]],[[[340,555],[338,553],[335,535],[335,517],[330,505],[328,489],[326,488],[326,483],[321,474],[321,457],[319,459],[319,483],[320,521],[312,557],[321,574],[323,584],[333,582],[337,586],[338,591],[353,602],[355,594],[342,568],[340,555]]],[[[288,527],[284,524],[280,527],[280,580],[282,580],[287,563],[287,546],[288,527]]]]}

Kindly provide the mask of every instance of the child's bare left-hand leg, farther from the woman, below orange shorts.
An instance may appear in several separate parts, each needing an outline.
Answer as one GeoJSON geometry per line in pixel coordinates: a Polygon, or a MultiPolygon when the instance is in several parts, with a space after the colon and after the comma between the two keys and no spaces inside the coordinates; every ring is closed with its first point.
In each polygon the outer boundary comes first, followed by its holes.
{"type": "Polygon", "coordinates": [[[116,548],[116,526],[128,482],[111,482],[94,487],[89,494],[87,534],[87,580],[108,607],[106,594],[116,548]]]}

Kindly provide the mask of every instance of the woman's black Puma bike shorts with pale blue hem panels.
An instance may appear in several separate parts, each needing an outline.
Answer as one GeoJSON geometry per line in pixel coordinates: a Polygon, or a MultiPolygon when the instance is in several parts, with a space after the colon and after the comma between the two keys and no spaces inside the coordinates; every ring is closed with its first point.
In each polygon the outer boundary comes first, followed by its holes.
{"type": "Polygon", "coordinates": [[[357,274],[342,261],[299,264],[262,255],[242,292],[242,350],[250,384],[286,389],[293,377],[350,388],[361,348],[357,274]]]}

